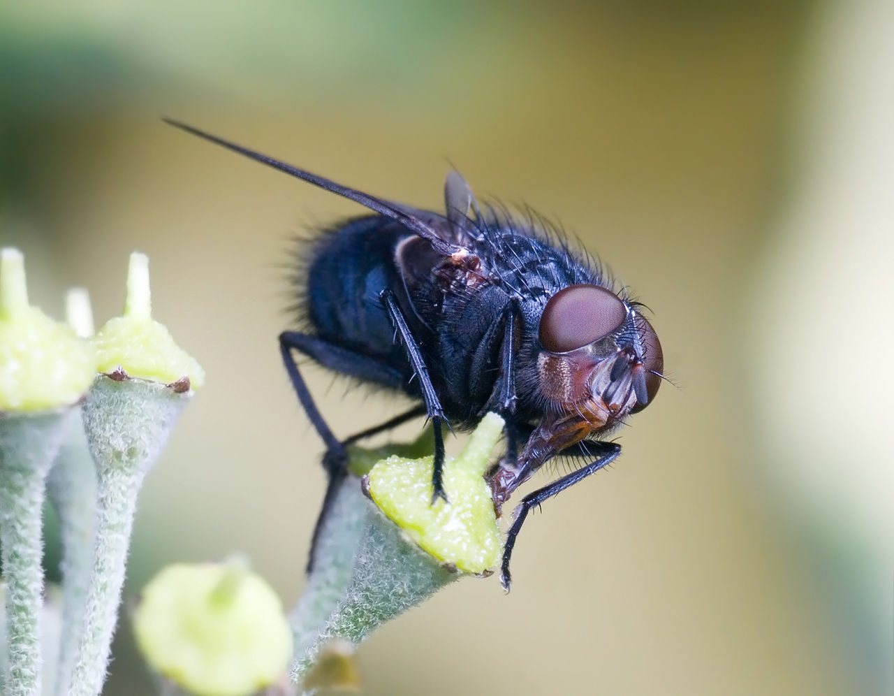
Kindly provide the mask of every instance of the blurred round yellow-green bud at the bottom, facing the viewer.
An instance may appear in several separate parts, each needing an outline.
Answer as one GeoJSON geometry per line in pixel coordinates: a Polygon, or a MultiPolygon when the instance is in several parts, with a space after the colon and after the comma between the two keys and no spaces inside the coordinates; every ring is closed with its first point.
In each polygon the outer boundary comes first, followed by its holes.
{"type": "Polygon", "coordinates": [[[280,599],[240,563],[168,565],[143,589],[133,629],[148,664],[198,696],[259,692],[291,658],[280,599]]]}

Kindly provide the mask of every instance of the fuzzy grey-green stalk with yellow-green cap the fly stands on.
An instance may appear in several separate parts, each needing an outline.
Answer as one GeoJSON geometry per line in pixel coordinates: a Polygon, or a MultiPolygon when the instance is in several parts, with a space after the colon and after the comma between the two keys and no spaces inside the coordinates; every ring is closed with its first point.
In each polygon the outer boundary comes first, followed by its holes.
{"type": "Polygon", "coordinates": [[[326,645],[357,646],[463,574],[486,573],[497,562],[500,532],[484,472],[502,425],[499,416],[486,416],[446,463],[453,505],[431,503],[429,437],[351,451],[350,471],[368,473],[363,488],[353,476],[342,483],[320,530],[308,588],[291,615],[291,683],[312,691],[308,675],[326,645]]]}

